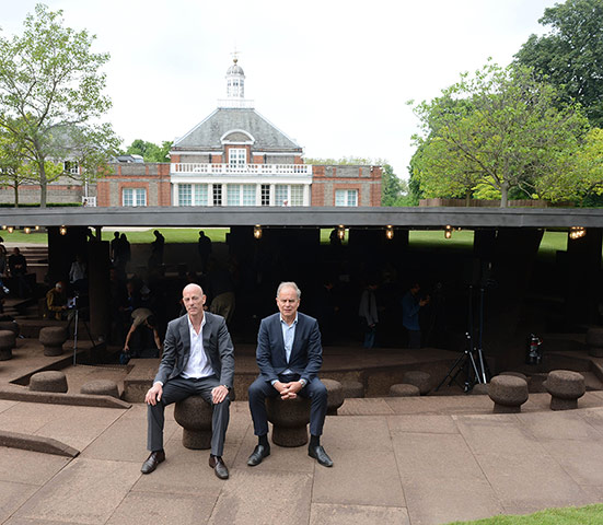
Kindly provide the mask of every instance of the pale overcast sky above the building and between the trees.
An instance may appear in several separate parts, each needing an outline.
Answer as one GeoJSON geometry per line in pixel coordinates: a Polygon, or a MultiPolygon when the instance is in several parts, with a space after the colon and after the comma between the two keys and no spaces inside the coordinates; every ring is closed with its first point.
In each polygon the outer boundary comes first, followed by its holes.
{"type": "MultiPolygon", "coordinates": [[[[408,100],[437,96],[488,57],[508,65],[555,0],[47,0],[66,25],[96,35],[125,145],[185,135],[225,97],[240,52],[245,97],[305,156],[385,159],[407,178],[417,119],[408,100]]],[[[4,36],[34,0],[0,0],[4,36]]]]}

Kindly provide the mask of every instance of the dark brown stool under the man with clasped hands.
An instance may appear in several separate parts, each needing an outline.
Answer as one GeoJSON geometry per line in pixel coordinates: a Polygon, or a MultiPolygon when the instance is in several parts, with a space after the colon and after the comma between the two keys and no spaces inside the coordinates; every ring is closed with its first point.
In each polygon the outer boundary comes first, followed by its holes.
{"type": "Polygon", "coordinates": [[[282,400],[280,396],[266,399],[268,421],[272,423],[272,443],[279,446],[302,446],[308,443],[310,399],[295,397],[282,400]]]}

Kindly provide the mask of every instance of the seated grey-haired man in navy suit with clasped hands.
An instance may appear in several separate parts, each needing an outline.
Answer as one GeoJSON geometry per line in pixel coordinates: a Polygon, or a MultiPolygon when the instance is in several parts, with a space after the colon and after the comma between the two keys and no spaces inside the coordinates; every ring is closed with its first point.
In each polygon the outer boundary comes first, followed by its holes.
{"type": "Polygon", "coordinates": [[[250,386],[250,410],[257,446],[247,459],[254,467],[270,455],[268,443],[267,397],[311,399],[310,445],[308,454],[321,465],[333,462],[321,445],[326,416],[326,388],[316,376],[323,363],[318,323],[298,312],[301,291],[294,282],[281,282],[277,290],[279,314],[262,319],[257,335],[256,361],[260,375],[250,386]]]}

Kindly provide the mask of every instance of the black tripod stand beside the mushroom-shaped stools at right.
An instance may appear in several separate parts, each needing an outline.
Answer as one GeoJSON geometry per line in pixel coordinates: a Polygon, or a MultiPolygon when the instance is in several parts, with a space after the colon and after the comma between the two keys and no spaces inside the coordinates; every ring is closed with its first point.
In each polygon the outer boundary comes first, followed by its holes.
{"type": "Polygon", "coordinates": [[[448,374],[441,381],[441,383],[436,387],[436,392],[440,389],[440,387],[450,378],[450,382],[448,383],[449,386],[452,385],[452,383],[456,382],[459,386],[463,388],[464,393],[468,393],[473,389],[474,385],[476,383],[487,383],[488,382],[488,375],[490,374],[490,371],[488,369],[488,363],[486,362],[486,359],[484,358],[484,350],[482,347],[482,338],[484,334],[484,287],[480,287],[479,289],[479,326],[478,326],[478,340],[477,340],[477,348],[474,346],[473,342],[473,334],[474,334],[474,327],[473,327],[473,285],[469,284],[468,287],[468,316],[467,316],[467,323],[468,323],[468,329],[465,332],[466,337],[466,347],[463,350],[463,353],[461,353],[450,370],[448,371],[448,374]],[[477,359],[476,359],[477,354],[477,359]],[[460,382],[457,380],[459,375],[462,375],[464,381],[460,382]]]}

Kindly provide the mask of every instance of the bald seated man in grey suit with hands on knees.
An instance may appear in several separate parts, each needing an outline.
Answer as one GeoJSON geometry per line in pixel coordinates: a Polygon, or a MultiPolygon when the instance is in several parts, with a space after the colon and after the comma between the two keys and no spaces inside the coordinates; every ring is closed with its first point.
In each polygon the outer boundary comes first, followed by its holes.
{"type": "Polygon", "coordinates": [[[206,296],[201,287],[188,284],[182,296],[186,315],[167,325],[159,372],[153,386],[144,396],[149,405],[147,447],[151,454],[142,464],[141,471],[150,474],[165,460],[165,406],[192,395],[200,395],[213,405],[209,466],[216,476],[228,479],[229,470],[222,460],[222,452],[229,424],[234,348],[224,318],[204,312],[206,296]]]}

